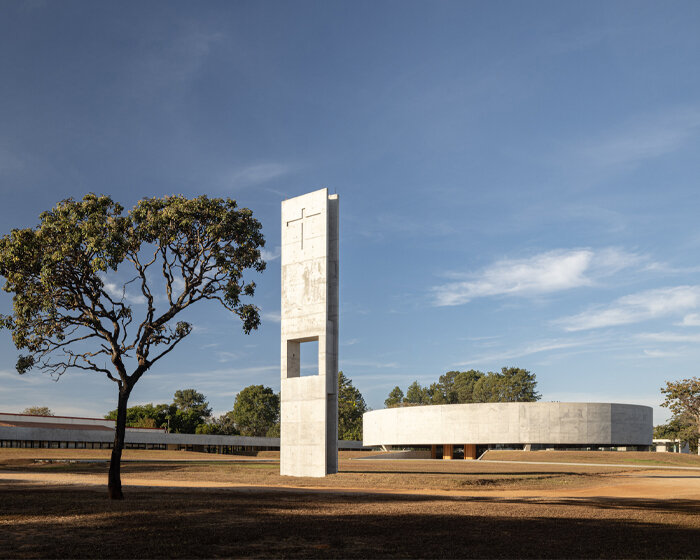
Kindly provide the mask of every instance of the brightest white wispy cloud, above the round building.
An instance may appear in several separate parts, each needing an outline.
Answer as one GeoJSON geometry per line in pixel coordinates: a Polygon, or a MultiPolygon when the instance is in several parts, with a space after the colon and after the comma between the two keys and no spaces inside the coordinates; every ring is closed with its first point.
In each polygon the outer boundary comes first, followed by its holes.
{"type": "Polygon", "coordinates": [[[461,305],[474,298],[538,295],[581,286],[642,262],[615,248],[556,250],[527,259],[503,259],[464,280],[433,288],[437,306],[461,305]]]}

